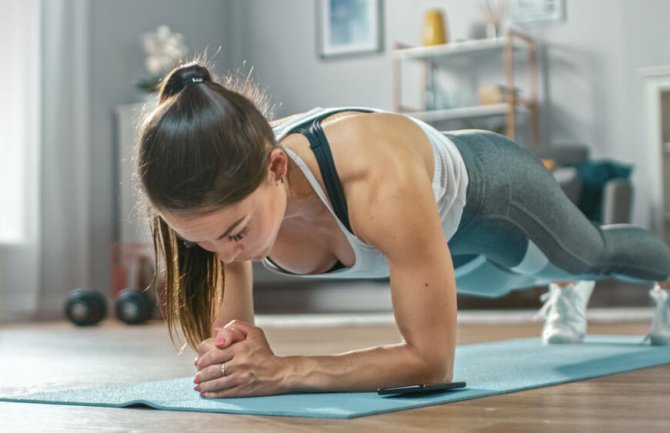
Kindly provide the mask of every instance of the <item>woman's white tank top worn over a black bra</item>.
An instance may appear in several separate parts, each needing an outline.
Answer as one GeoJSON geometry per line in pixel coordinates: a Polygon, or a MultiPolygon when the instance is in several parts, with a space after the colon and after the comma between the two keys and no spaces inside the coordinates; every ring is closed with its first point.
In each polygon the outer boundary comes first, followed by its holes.
{"type": "MultiPolygon", "coordinates": [[[[360,110],[377,113],[385,112],[383,110],[362,107],[314,108],[313,110],[296,116],[289,122],[274,128],[275,137],[277,141],[279,141],[288,135],[291,130],[298,125],[304,124],[318,117],[327,116],[331,113],[348,110],[360,110]]],[[[419,127],[421,127],[433,148],[433,155],[435,160],[433,194],[440,212],[442,231],[444,233],[445,239],[449,240],[458,228],[458,224],[463,214],[463,208],[465,207],[465,192],[468,186],[468,174],[465,169],[465,163],[463,162],[463,158],[456,148],[456,145],[451,142],[451,140],[449,140],[444,134],[440,133],[425,122],[414,119],[410,116],[407,117],[413,120],[417,125],[419,125],[419,127]]],[[[389,267],[386,257],[381,253],[381,251],[361,241],[353,233],[347,230],[344,224],[342,224],[339,218],[337,218],[335,215],[335,211],[333,210],[330,200],[328,199],[328,195],[321,188],[321,185],[319,184],[314,174],[310,171],[309,167],[307,167],[305,162],[295,152],[286,148],[284,148],[284,150],[293,160],[296,166],[300,168],[300,170],[305,175],[305,178],[307,178],[310,185],[318,195],[319,199],[321,199],[324,205],[335,217],[340,230],[342,230],[342,233],[344,233],[347,240],[349,241],[349,245],[351,245],[356,259],[354,265],[350,268],[341,268],[322,274],[299,274],[299,276],[329,279],[367,279],[388,277],[389,267]]],[[[281,274],[289,274],[288,272],[279,269],[268,259],[264,259],[263,264],[272,271],[281,274]]]]}

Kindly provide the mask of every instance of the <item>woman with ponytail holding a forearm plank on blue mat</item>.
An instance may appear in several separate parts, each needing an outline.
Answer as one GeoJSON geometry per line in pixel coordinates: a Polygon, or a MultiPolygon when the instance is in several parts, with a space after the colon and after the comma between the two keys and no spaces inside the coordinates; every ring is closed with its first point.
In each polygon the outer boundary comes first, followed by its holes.
{"type": "Polygon", "coordinates": [[[457,277],[485,296],[617,275],[669,283],[666,245],[594,227],[502,136],[370,109],[316,109],[273,130],[198,64],[166,77],[138,177],[165,258],[165,314],[197,348],[204,397],[449,382],[457,277]],[[390,276],[403,341],[275,356],[253,325],[259,260],[305,277],[390,276]]]}

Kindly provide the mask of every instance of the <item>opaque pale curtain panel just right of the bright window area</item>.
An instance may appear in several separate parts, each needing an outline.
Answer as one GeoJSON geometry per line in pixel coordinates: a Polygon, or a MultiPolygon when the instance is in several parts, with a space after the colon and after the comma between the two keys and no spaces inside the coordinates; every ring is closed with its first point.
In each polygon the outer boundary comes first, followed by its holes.
{"type": "Polygon", "coordinates": [[[40,292],[36,318],[62,317],[90,285],[90,0],[42,2],[40,292]]]}

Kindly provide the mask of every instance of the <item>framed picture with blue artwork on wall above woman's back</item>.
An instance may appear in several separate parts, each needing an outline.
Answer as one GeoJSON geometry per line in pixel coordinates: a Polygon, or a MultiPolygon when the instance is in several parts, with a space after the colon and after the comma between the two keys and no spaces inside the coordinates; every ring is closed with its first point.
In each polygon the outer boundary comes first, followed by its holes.
{"type": "Polygon", "coordinates": [[[383,50],[382,0],[316,0],[317,49],[321,58],[383,50]]]}

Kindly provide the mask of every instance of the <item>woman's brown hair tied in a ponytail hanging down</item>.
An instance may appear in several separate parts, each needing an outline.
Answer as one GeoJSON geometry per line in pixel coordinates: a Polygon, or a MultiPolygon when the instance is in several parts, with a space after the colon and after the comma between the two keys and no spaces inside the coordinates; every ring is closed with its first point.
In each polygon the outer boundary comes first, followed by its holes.
{"type": "Polygon", "coordinates": [[[161,309],[170,336],[179,325],[192,347],[210,335],[223,300],[223,264],[214,253],[180,241],[157,211],[195,216],[239,202],[265,178],[276,146],[268,120],[242,92],[261,94],[249,80],[239,92],[227,87],[197,62],[174,69],[144,122],[137,151],[156,269],[160,262],[165,267],[161,309]]]}

